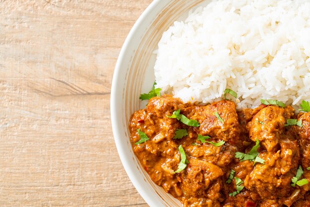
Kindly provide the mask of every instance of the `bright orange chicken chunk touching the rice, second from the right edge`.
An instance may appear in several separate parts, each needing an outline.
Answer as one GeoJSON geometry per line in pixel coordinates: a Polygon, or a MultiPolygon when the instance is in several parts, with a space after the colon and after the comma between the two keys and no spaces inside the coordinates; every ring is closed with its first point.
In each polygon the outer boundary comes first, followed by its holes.
{"type": "Polygon", "coordinates": [[[247,125],[250,139],[259,140],[268,152],[276,152],[284,124],[294,114],[291,106],[281,108],[271,105],[262,108],[247,125]]]}

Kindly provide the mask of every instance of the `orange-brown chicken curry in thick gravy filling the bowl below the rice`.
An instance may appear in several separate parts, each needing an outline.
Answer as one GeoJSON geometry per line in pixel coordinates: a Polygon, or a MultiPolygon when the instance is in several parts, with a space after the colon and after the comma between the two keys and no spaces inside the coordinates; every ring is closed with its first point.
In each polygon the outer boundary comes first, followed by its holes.
{"type": "Polygon", "coordinates": [[[310,181],[310,112],[295,115],[291,106],[274,105],[237,111],[231,101],[194,105],[164,95],[136,111],[129,128],[134,153],[144,169],[184,207],[310,207],[310,184],[291,186],[299,165],[304,170],[300,179],[310,181]],[[168,117],[178,109],[200,126],[187,126],[168,117]],[[302,120],[303,127],[285,127],[287,119],[302,120]],[[150,140],[135,145],[140,140],[138,129],[150,140]],[[188,135],[173,139],[177,129],[186,129],[188,135]],[[199,134],[225,144],[202,143],[197,140],[199,134]],[[236,152],[249,153],[256,140],[265,164],[235,158],[236,152]],[[175,173],[181,160],[179,145],[189,163],[175,173]],[[235,196],[229,194],[236,191],[236,179],[226,183],[231,169],[245,186],[235,196]]]}

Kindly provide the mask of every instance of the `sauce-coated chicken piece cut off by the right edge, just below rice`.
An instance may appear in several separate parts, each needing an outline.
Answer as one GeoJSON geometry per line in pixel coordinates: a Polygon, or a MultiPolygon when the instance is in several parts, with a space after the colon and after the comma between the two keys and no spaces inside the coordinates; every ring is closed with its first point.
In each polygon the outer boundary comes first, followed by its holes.
{"type": "Polygon", "coordinates": [[[294,126],[299,135],[299,145],[302,155],[302,167],[310,167],[310,112],[298,114],[298,121],[302,120],[303,127],[294,126]]]}

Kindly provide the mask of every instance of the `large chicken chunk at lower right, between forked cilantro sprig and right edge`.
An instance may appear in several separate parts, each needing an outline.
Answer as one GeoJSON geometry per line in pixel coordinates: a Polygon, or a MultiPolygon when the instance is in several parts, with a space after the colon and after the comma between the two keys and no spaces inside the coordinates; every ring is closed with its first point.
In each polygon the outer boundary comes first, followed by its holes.
{"type": "Polygon", "coordinates": [[[257,192],[261,199],[289,197],[294,191],[290,184],[299,165],[299,147],[297,141],[289,139],[281,139],[279,145],[276,153],[259,154],[265,164],[257,163],[244,181],[245,187],[257,192]]]}

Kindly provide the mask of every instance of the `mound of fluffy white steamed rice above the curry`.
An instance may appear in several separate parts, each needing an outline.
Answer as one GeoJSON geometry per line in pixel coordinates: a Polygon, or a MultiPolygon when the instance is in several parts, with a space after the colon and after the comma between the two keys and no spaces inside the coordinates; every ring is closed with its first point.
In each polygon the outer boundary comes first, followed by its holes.
{"type": "Polygon", "coordinates": [[[310,101],[310,0],[214,0],[174,22],[156,53],[156,87],[184,102],[226,88],[238,107],[310,101]]]}

